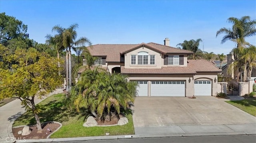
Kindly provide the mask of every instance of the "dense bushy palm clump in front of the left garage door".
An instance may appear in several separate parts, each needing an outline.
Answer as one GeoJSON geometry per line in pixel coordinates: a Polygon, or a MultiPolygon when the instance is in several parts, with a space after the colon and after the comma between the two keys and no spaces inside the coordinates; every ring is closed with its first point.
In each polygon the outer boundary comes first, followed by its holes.
{"type": "Polygon", "coordinates": [[[119,118],[120,109],[127,110],[134,102],[136,82],[128,82],[122,74],[109,74],[98,69],[86,70],[80,76],[69,94],[75,97],[74,106],[89,110],[99,120],[111,120],[115,115],[119,118]]]}

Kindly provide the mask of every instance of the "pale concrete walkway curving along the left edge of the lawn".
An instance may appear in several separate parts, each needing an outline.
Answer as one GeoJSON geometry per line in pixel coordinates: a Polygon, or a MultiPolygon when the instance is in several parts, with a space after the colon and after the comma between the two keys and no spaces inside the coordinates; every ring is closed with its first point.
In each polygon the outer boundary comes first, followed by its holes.
{"type": "MultiPolygon", "coordinates": [[[[62,89],[56,89],[48,96],[62,92],[62,89]]],[[[48,96],[45,96],[44,99],[48,96]]],[[[35,104],[38,104],[42,100],[35,98],[35,104]]],[[[22,115],[24,112],[25,108],[22,108],[19,99],[16,99],[0,107],[0,143],[6,142],[6,138],[8,137],[14,137],[12,134],[12,124],[15,119],[22,115]]]]}

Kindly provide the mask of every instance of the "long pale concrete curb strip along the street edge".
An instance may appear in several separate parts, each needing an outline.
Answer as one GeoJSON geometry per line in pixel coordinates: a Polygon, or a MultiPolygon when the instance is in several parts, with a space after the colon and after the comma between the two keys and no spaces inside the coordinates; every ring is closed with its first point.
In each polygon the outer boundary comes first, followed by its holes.
{"type": "Polygon", "coordinates": [[[26,141],[17,141],[18,143],[55,143],[72,141],[94,141],[106,139],[142,139],[142,138],[161,138],[161,137],[200,137],[200,136],[227,136],[227,135],[255,135],[255,132],[226,132],[226,133],[171,133],[171,134],[151,134],[151,135],[110,135],[95,137],[70,137],[54,139],[26,139],[26,141]]]}

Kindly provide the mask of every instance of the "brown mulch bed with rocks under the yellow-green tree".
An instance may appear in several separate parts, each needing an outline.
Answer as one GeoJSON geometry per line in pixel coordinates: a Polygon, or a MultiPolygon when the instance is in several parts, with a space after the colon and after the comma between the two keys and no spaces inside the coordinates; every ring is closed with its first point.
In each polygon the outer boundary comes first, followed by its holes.
{"type": "Polygon", "coordinates": [[[25,137],[25,139],[46,139],[46,137],[58,129],[58,127],[60,127],[58,123],[46,123],[42,124],[42,131],[38,131],[36,126],[30,127],[32,131],[29,135],[18,135],[18,131],[22,131],[23,127],[12,128],[12,133],[16,139],[23,139],[23,137],[25,137]],[[48,128],[51,131],[48,131],[48,128]]]}

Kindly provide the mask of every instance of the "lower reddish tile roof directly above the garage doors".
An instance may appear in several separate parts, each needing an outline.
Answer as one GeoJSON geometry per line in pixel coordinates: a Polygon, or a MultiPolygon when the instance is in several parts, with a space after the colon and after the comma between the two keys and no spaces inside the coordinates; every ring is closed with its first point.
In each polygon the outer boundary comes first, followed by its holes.
{"type": "Polygon", "coordinates": [[[124,74],[196,74],[196,72],[220,72],[214,64],[205,60],[188,60],[187,67],[162,67],[161,69],[125,69],[124,74]]]}

